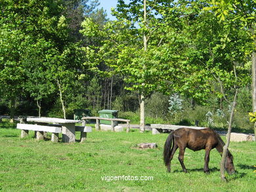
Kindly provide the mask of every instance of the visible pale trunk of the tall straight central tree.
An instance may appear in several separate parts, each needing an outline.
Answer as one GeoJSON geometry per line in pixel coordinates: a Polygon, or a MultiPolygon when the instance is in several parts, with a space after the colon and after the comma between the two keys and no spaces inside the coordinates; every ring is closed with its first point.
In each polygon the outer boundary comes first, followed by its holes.
{"type": "MultiPolygon", "coordinates": [[[[143,1],[144,5],[144,24],[146,25],[146,0],[143,1]]],[[[148,48],[148,42],[146,39],[146,34],[144,33],[143,35],[143,44],[144,44],[144,51],[146,52],[148,48]]],[[[143,66],[144,68],[145,66],[143,66]]],[[[142,83],[142,86],[145,85],[142,83]]],[[[140,96],[140,132],[145,131],[145,96],[144,93],[142,92],[140,96]]]]}

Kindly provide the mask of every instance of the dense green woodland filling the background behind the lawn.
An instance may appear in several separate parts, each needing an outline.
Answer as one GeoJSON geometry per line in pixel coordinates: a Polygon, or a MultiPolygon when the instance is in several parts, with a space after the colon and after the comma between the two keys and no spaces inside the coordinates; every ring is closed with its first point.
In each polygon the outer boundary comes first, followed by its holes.
{"type": "Polygon", "coordinates": [[[226,127],[236,100],[233,126],[253,130],[255,1],[146,3],[111,21],[97,0],[1,0],[0,115],[138,123],[143,104],[146,123],[226,127]]]}

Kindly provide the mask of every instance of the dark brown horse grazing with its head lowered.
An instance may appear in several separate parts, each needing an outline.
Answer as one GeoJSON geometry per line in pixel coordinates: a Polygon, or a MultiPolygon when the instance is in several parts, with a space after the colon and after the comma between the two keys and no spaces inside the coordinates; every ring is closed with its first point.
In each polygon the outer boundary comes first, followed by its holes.
{"type": "MultiPolygon", "coordinates": [[[[209,154],[211,149],[216,148],[217,151],[222,154],[224,145],[225,144],[219,134],[210,128],[178,128],[169,134],[163,149],[163,161],[165,166],[167,166],[167,172],[171,172],[171,160],[178,147],[179,161],[182,170],[187,172],[183,159],[185,148],[188,147],[188,149],[192,149],[193,151],[205,149],[205,164],[203,171],[209,173],[209,154]]],[[[234,173],[233,156],[230,151],[227,152],[224,167],[228,174],[234,173]]]]}

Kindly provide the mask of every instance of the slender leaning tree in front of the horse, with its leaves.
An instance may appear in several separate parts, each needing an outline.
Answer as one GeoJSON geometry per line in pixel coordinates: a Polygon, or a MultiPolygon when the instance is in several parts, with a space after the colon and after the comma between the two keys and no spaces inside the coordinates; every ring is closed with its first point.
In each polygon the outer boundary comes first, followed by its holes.
{"type": "MultiPolygon", "coordinates": [[[[215,14],[220,18],[222,21],[222,24],[224,26],[224,29],[233,29],[234,24],[236,28],[236,33],[241,34],[244,33],[243,36],[246,37],[245,33],[248,31],[253,31],[253,28],[255,28],[255,2],[254,1],[212,1],[211,7],[207,8],[206,10],[214,10],[215,14]],[[251,30],[249,30],[251,29],[251,30]]],[[[253,37],[253,32],[251,33],[251,37],[253,37]]],[[[244,58],[245,56],[245,47],[240,45],[241,36],[235,39],[235,41],[228,41],[229,34],[224,33],[226,35],[224,46],[226,45],[232,45],[235,48],[240,48],[240,51],[234,52],[234,54],[228,55],[229,58],[233,59],[234,62],[234,77],[236,79],[236,85],[238,85],[238,76],[236,73],[236,66],[238,63],[240,63],[241,58],[244,58]]],[[[235,37],[234,33],[232,33],[233,37],[235,37]]],[[[255,37],[254,37],[255,38],[255,37]]],[[[245,44],[246,45],[246,44],[245,44]]],[[[248,44],[247,44],[248,45],[248,44]]],[[[252,69],[254,65],[256,64],[255,60],[255,40],[254,43],[251,43],[251,51],[252,53],[252,69]],[[254,45],[253,45],[254,44],[254,45]],[[254,64],[255,63],[255,64],[254,64]]],[[[250,47],[250,46],[248,46],[250,47]]],[[[247,51],[248,53],[251,51],[247,51]]],[[[254,76],[254,75],[253,75],[254,76]]],[[[241,81],[240,81],[241,82],[241,81]]],[[[255,88],[255,87],[253,87],[255,88]]],[[[237,95],[237,88],[236,93],[234,96],[234,102],[232,104],[232,110],[230,114],[230,121],[228,125],[228,134],[227,134],[227,142],[226,145],[223,147],[223,157],[221,161],[221,179],[226,181],[226,178],[224,176],[224,159],[226,157],[226,151],[230,142],[230,132],[231,132],[231,123],[232,123],[232,116],[234,115],[234,107],[236,106],[236,95],[237,95]]]]}

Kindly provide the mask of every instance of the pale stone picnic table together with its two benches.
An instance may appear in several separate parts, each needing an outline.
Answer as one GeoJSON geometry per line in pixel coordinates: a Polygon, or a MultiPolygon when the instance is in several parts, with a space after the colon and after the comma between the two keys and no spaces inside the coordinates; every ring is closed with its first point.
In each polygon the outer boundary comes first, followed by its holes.
{"type": "Polygon", "coordinates": [[[52,141],[54,136],[58,138],[58,133],[62,133],[62,142],[72,143],[75,142],[75,131],[81,132],[81,140],[86,138],[86,133],[91,132],[91,127],[75,126],[75,123],[82,123],[83,121],[72,119],[60,119],[51,117],[27,118],[27,122],[31,124],[18,124],[17,128],[21,130],[35,130],[38,134],[37,138],[43,137],[43,132],[53,132],[52,141]]]}

